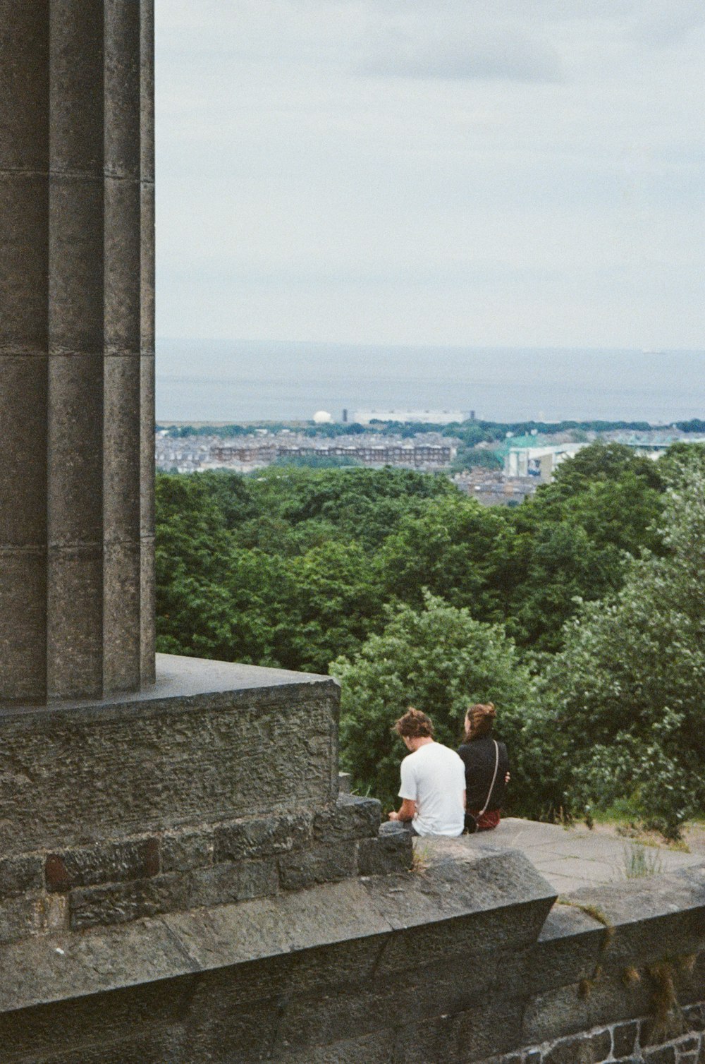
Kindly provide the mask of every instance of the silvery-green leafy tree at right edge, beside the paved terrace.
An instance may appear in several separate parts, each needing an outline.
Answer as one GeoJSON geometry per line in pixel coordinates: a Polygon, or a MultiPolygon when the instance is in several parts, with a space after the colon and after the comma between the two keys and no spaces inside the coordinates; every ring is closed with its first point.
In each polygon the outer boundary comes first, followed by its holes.
{"type": "Polygon", "coordinates": [[[536,683],[535,811],[628,798],[675,835],[705,804],[705,470],[669,469],[660,537],[624,586],[585,603],[536,683]]]}

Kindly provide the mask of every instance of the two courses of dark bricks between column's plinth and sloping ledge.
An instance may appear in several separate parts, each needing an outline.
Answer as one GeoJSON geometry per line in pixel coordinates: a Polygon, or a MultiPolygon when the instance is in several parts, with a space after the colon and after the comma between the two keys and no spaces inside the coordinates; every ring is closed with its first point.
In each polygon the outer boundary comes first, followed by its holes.
{"type": "Polygon", "coordinates": [[[0,859],[0,944],[404,871],[412,836],[377,837],[380,802],[241,817],[0,859]]]}

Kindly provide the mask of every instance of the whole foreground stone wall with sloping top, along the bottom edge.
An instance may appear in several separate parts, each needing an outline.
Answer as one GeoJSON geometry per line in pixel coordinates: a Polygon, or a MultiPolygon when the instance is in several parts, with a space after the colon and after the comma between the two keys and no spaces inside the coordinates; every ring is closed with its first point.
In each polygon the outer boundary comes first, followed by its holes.
{"type": "Polygon", "coordinates": [[[705,870],[554,902],[517,852],[424,841],[413,871],[17,943],[0,1044],[22,1064],[700,1064],[705,870]]]}

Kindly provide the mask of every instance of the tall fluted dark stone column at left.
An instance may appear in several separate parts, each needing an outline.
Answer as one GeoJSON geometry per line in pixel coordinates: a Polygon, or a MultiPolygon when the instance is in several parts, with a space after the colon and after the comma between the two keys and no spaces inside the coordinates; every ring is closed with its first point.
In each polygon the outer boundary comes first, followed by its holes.
{"type": "Polygon", "coordinates": [[[0,702],[154,679],[153,0],[0,0],[0,702]]]}

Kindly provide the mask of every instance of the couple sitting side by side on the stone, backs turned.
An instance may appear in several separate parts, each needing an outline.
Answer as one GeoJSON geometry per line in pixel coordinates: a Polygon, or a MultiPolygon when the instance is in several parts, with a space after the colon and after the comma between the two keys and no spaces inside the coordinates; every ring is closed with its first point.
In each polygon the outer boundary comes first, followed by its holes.
{"type": "Polygon", "coordinates": [[[399,821],[414,835],[460,835],[488,831],[500,822],[509,779],[504,743],[492,738],[494,706],[471,705],[465,717],[465,743],[457,753],[433,737],[433,724],[409,709],[395,725],[409,751],[401,764],[399,821]]]}

